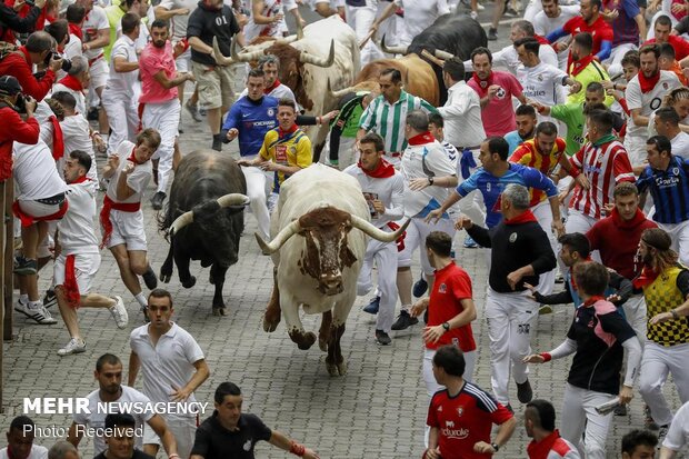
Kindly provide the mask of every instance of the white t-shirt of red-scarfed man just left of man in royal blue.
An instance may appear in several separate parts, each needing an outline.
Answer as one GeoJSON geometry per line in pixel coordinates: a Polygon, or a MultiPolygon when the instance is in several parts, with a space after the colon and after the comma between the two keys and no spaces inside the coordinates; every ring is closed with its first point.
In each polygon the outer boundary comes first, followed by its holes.
{"type": "Polygon", "coordinates": [[[402,156],[400,171],[405,178],[405,216],[425,217],[431,210],[440,208],[447,199],[451,188],[426,187],[419,191],[408,188],[411,179],[428,178],[431,172],[435,178],[455,176],[457,163],[452,162],[442,144],[437,140],[430,143],[408,146],[402,156]]]}

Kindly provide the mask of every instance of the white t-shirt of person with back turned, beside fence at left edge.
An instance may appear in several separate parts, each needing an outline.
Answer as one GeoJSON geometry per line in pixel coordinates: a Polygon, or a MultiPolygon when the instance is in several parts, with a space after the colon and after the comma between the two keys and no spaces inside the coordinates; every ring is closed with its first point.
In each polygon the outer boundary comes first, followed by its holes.
{"type": "Polygon", "coordinates": [[[19,188],[17,199],[29,201],[52,198],[67,190],[50,148],[42,140],[32,146],[14,142],[12,156],[14,183],[19,188]]]}

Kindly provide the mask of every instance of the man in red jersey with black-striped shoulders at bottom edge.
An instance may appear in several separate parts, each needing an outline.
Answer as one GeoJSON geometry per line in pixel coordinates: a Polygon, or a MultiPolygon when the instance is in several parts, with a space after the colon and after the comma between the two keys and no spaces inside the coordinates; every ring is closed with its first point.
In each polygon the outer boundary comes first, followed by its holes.
{"type": "Polygon", "coordinates": [[[447,389],[436,392],[426,423],[431,428],[425,459],[490,458],[507,443],[517,421],[512,413],[478,386],[463,380],[465,356],[443,346],[433,356],[433,376],[447,389]],[[495,440],[492,425],[500,426],[495,440]]]}

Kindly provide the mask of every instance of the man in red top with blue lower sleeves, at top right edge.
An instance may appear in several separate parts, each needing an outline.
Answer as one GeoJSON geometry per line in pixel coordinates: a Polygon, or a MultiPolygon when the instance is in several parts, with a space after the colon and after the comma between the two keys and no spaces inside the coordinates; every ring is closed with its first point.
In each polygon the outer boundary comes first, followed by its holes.
{"type": "MultiPolygon", "coordinates": [[[[593,37],[593,50],[591,52],[599,62],[602,62],[610,57],[612,50],[612,27],[606,22],[600,13],[602,8],[600,0],[581,0],[580,8],[581,16],[565,22],[565,26],[548,33],[546,38],[555,43],[565,36],[571,34],[573,37],[580,32],[589,32],[593,37]]],[[[556,51],[560,51],[558,44],[553,46],[556,51]]],[[[571,54],[569,60],[571,60],[571,54]]],[[[569,63],[567,68],[569,68],[569,63]]]]}

